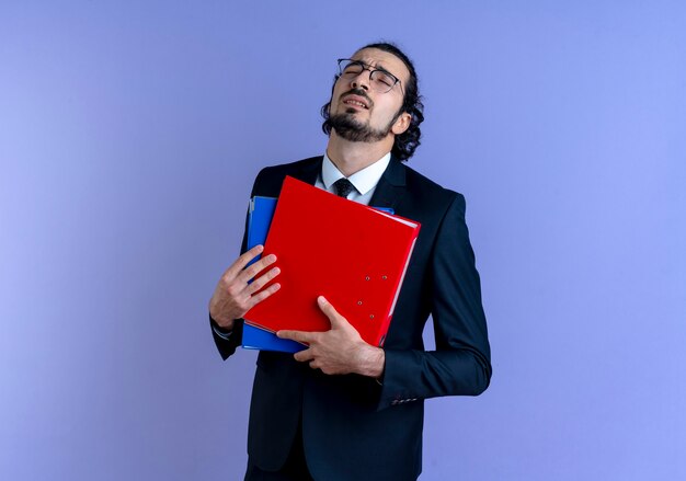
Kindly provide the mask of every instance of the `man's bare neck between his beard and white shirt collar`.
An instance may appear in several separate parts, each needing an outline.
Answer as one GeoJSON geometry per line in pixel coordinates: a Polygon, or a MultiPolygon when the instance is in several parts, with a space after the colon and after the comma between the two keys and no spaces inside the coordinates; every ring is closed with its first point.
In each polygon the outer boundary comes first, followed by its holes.
{"type": "Polygon", "coordinates": [[[393,136],[378,142],[352,142],[331,131],[327,145],[327,156],[343,175],[350,177],[386,156],[393,148],[393,136]]]}

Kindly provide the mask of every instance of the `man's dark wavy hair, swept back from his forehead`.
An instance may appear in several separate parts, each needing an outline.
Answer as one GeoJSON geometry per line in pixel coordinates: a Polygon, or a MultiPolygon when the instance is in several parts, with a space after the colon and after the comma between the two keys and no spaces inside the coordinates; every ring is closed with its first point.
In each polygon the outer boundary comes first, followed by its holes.
{"type": "MultiPolygon", "coordinates": [[[[391,55],[395,55],[400,60],[402,60],[402,62],[410,71],[410,79],[407,83],[403,84],[404,99],[402,101],[400,112],[407,112],[412,116],[412,118],[410,119],[410,127],[408,127],[408,129],[402,134],[396,136],[396,141],[391,150],[393,157],[396,157],[398,160],[405,161],[410,157],[412,157],[414,150],[416,150],[416,148],[421,144],[420,137],[422,136],[422,131],[420,130],[420,124],[424,121],[424,104],[422,103],[422,96],[419,93],[414,65],[412,65],[412,60],[410,60],[410,58],[395,44],[387,42],[369,44],[359,48],[357,51],[364,50],[365,48],[376,48],[378,50],[387,51],[391,55]]],[[[333,79],[334,87],[338,80],[339,76],[336,75],[333,79]]],[[[331,88],[331,92],[333,93],[333,87],[331,88]]],[[[331,100],[321,107],[321,116],[324,118],[324,122],[321,125],[321,129],[327,135],[331,135],[331,122],[329,121],[330,107],[331,100]]]]}

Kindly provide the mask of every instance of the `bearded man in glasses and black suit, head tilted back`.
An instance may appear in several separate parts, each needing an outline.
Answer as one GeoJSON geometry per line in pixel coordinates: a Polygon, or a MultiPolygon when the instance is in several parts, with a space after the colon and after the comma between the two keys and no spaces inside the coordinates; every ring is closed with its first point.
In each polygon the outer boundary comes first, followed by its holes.
{"type": "MultiPolygon", "coordinates": [[[[260,353],[247,480],[415,480],[422,468],[424,399],[477,396],[491,377],[465,199],[401,163],[419,146],[423,121],[414,67],[385,43],[367,45],[339,64],[331,100],[322,107],[325,154],[264,169],[252,195],[275,197],[291,175],[354,202],[391,207],[422,228],[382,348],[362,341],[320,297],[330,331],[281,331],[281,337],[309,348],[295,355],[260,353]],[[434,352],[425,352],[422,341],[430,314],[434,352]]],[[[244,252],[209,302],[225,359],[240,345],[237,320],[278,295],[274,255],[265,253],[245,267],[261,253],[260,245],[244,252]]]]}

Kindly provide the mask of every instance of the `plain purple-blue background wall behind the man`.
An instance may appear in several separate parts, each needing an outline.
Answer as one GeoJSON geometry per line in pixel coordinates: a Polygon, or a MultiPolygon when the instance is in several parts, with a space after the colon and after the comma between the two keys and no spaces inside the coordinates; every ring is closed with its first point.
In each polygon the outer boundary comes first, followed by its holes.
{"type": "Polygon", "coordinates": [[[427,401],[422,479],[685,479],[684,2],[323,3],[0,4],[0,478],[242,476],[255,356],[207,300],[254,174],[322,152],[335,59],[388,38],[493,350],[427,401]]]}

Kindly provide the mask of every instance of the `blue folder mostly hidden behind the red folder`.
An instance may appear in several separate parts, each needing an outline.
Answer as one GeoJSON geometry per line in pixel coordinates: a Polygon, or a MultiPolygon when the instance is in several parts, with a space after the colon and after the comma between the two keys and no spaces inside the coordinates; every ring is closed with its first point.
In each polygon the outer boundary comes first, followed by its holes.
{"type": "MultiPolygon", "coordinates": [[[[254,196],[250,199],[247,249],[252,249],[258,244],[264,244],[266,241],[266,234],[270,231],[272,217],[274,217],[274,210],[276,209],[276,201],[277,198],[275,197],[261,196],[254,196]]],[[[388,214],[393,214],[393,209],[391,208],[375,208],[388,214]]],[[[259,257],[253,259],[248,265],[256,262],[258,259],[259,257]]],[[[279,339],[273,332],[248,323],[243,324],[243,341],[241,345],[247,350],[279,351],[283,353],[297,353],[298,351],[307,348],[305,344],[290,341],[289,339],[279,339]]]]}

